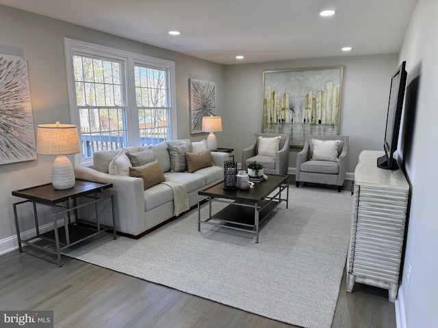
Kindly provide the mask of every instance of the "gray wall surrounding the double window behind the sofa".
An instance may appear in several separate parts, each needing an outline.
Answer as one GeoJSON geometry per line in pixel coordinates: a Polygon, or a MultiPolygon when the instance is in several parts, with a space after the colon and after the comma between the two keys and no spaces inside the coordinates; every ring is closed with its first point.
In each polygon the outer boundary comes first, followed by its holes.
{"type": "MultiPolygon", "coordinates": [[[[23,49],[27,58],[35,127],[38,124],[56,120],[64,123],[70,122],[64,64],[64,37],[175,61],[178,138],[206,137],[205,133],[190,136],[189,78],[216,81],[218,115],[222,115],[224,110],[222,104],[224,66],[222,65],[0,5],[0,46],[3,46],[3,49],[11,46],[23,49]]],[[[218,142],[222,142],[221,135],[218,135],[218,142]]],[[[52,156],[38,155],[36,161],[0,165],[0,208],[2,211],[0,254],[1,241],[15,235],[12,203],[22,200],[13,197],[11,191],[50,182],[53,160],[52,156]]],[[[30,210],[23,210],[23,212],[21,213],[21,230],[25,231],[33,228],[31,224],[33,219],[29,219],[30,210]]],[[[49,217],[41,216],[40,219],[44,223],[49,217]]]]}

